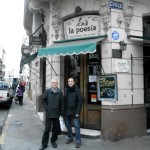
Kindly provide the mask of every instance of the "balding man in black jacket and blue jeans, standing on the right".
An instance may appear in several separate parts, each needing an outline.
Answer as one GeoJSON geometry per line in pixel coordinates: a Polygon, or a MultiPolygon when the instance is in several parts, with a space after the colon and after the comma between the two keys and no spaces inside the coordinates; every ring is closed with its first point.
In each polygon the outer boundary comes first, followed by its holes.
{"type": "Polygon", "coordinates": [[[73,141],[72,135],[72,121],[75,127],[75,147],[79,148],[81,146],[80,137],[80,112],[82,107],[82,96],[80,89],[75,85],[74,79],[68,79],[68,87],[65,93],[65,120],[66,127],[68,130],[68,140],[66,144],[73,141]]]}

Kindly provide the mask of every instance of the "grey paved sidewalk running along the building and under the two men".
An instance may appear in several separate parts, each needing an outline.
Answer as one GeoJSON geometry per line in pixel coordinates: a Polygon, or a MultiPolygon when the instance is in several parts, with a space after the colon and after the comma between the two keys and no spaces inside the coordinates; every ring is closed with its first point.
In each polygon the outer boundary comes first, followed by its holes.
{"type": "MultiPolygon", "coordinates": [[[[32,101],[24,96],[24,105],[13,101],[0,137],[0,150],[38,150],[44,130],[32,101]]],[[[50,134],[51,137],[51,134],[50,134]]],[[[67,135],[58,137],[56,150],[76,150],[74,142],[67,145],[67,135]]],[[[54,149],[49,143],[45,150],[54,149]]],[[[82,138],[80,150],[149,150],[150,136],[125,139],[117,142],[82,138]]]]}

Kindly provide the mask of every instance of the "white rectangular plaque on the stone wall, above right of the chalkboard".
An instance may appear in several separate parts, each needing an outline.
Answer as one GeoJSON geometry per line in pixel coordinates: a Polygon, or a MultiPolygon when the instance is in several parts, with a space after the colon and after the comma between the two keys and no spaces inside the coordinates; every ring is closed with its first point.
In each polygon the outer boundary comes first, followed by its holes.
{"type": "Polygon", "coordinates": [[[129,72],[129,61],[122,59],[114,60],[114,69],[115,72],[129,72]]]}

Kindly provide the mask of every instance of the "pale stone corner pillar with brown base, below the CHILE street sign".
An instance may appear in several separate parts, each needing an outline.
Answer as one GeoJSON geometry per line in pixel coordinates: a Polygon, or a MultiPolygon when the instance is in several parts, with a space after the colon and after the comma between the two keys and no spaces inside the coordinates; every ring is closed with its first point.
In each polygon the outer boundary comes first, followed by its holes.
{"type": "MultiPolygon", "coordinates": [[[[102,29],[108,34],[107,40],[101,45],[102,66],[105,74],[117,75],[118,99],[102,101],[101,109],[102,139],[111,141],[146,135],[143,60],[131,59],[131,56],[142,58],[143,48],[138,43],[127,39],[127,35],[132,31],[132,21],[136,21],[136,16],[133,15],[134,5],[130,0],[123,1],[123,4],[124,10],[116,13],[115,9],[108,9],[107,0],[102,0],[100,9],[102,29]],[[117,38],[113,38],[114,31],[117,33],[117,38]],[[120,58],[115,58],[112,55],[113,50],[120,51],[120,41],[127,43],[127,49],[121,51],[120,58]],[[127,62],[125,65],[128,68],[127,71],[124,71],[121,63],[116,64],[117,61],[127,62]]],[[[142,22],[142,17],[138,21],[142,22]]],[[[141,28],[134,26],[134,30],[138,31],[137,35],[140,35],[142,26],[141,28]]]]}

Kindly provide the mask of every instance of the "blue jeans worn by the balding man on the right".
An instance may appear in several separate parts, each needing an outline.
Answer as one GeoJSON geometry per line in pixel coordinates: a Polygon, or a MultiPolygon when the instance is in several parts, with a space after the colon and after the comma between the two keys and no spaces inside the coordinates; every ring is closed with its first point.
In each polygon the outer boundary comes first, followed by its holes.
{"type": "Polygon", "coordinates": [[[68,138],[69,140],[73,140],[72,134],[72,121],[75,127],[75,137],[76,143],[81,143],[81,136],[80,136],[80,119],[79,117],[72,118],[71,116],[66,116],[66,127],[68,130],[68,138]]]}

